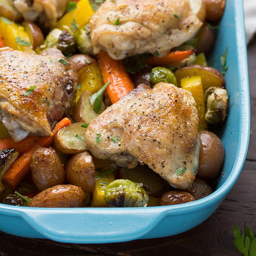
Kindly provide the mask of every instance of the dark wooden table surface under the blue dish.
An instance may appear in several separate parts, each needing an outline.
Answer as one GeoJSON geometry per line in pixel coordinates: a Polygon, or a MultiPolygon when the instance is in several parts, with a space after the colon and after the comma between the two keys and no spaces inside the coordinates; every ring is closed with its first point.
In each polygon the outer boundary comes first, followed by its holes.
{"type": "Polygon", "coordinates": [[[256,234],[256,38],[248,47],[251,130],[243,172],[208,220],[176,236],[112,244],[67,244],[0,233],[0,256],[241,256],[233,244],[234,224],[246,222],[256,234]]]}

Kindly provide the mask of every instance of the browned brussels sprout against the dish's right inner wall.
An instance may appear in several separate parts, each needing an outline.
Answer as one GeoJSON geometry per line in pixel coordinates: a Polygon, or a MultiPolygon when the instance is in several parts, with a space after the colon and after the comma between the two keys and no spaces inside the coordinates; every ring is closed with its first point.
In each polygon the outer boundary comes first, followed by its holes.
{"type": "Polygon", "coordinates": [[[209,124],[222,124],[226,118],[228,94],[225,89],[210,87],[204,93],[206,103],[205,120],[209,124]]]}

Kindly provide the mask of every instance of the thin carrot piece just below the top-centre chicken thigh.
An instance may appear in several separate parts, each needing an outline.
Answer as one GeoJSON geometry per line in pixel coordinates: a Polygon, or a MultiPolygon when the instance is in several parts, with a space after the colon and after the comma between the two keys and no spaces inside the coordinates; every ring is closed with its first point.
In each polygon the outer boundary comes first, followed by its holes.
{"type": "Polygon", "coordinates": [[[180,61],[188,58],[194,52],[195,52],[195,50],[191,49],[191,50],[187,50],[187,51],[170,52],[163,57],[150,56],[148,58],[147,64],[152,67],[166,66],[169,64],[180,62],[180,61]]]}

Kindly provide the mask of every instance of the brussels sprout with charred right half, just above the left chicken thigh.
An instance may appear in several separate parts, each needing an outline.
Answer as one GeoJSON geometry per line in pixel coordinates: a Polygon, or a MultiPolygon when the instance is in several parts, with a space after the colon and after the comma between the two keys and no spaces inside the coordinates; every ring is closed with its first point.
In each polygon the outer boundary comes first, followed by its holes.
{"type": "Polygon", "coordinates": [[[46,37],[44,44],[37,48],[37,52],[57,47],[64,55],[72,54],[75,50],[75,40],[73,34],[67,30],[54,28],[46,37]]]}

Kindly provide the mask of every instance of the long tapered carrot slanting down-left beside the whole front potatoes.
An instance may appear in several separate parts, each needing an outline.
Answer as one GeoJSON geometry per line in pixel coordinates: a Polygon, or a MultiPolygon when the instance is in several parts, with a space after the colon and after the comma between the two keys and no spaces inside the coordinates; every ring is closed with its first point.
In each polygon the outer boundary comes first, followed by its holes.
{"type": "Polygon", "coordinates": [[[54,128],[53,135],[49,137],[41,137],[34,145],[29,148],[23,155],[21,155],[10,168],[3,175],[3,182],[8,184],[12,189],[15,189],[20,183],[22,178],[30,170],[30,160],[35,148],[38,146],[49,147],[54,142],[55,134],[63,127],[71,124],[71,121],[65,117],[60,122],[58,122],[54,128]]]}

